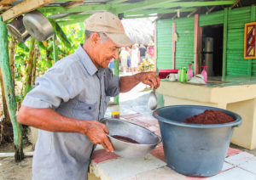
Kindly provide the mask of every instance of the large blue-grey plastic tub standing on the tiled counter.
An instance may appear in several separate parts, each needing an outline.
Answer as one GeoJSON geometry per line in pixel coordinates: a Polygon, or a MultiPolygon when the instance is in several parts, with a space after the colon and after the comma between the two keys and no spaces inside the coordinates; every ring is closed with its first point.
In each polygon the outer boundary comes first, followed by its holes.
{"type": "Polygon", "coordinates": [[[187,124],[183,121],[205,110],[218,108],[177,105],[154,110],[159,120],[166,163],[176,172],[192,177],[209,177],[221,171],[234,127],[241,126],[241,116],[222,110],[236,121],[217,125],[187,124]]]}

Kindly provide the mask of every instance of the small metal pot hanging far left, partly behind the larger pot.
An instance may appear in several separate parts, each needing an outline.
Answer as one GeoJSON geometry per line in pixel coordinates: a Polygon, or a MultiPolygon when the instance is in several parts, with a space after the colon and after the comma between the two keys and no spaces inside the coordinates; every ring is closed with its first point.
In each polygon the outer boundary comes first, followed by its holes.
{"type": "Polygon", "coordinates": [[[26,42],[26,40],[31,37],[23,25],[22,15],[12,20],[9,24],[6,25],[6,27],[9,33],[11,33],[11,35],[15,37],[15,39],[20,43],[26,42]]]}

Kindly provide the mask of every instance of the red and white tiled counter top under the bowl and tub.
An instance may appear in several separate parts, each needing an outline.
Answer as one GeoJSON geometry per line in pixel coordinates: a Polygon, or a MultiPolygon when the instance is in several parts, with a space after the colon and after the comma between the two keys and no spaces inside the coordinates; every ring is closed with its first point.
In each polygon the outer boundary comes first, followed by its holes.
{"type": "MultiPolygon", "coordinates": [[[[107,117],[110,112],[111,109],[108,109],[107,117]]],[[[120,119],[131,121],[160,135],[158,121],[153,117],[146,117],[125,109],[120,109],[120,115],[120,119]]],[[[239,149],[230,148],[223,169],[218,175],[188,177],[166,166],[162,143],[158,144],[150,154],[139,159],[123,158],[98,146],[92,157],[90,172],[102,180],[255,180],[256,157],[239,149]]]]}

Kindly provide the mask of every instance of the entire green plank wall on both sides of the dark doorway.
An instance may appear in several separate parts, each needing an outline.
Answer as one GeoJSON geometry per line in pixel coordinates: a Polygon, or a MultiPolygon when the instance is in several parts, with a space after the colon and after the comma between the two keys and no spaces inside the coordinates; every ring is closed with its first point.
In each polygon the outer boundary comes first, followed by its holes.
{"type": "MultiPolygon", "coordinates": [[[[244,25],[255,21],[255,7],[228,9],[226,76],[256,76],[256,59],[244,59],[244,25]]],[[[176,22],[175,68],[194,61],[195,17],[157,21],[157,66],[172,69],[172,22],[176,22]]],[[[199,26],[224,24],[224,10],[199,16],[199,26]]],[[[188,67],[188,66],[187,66],[188,67]]]]}

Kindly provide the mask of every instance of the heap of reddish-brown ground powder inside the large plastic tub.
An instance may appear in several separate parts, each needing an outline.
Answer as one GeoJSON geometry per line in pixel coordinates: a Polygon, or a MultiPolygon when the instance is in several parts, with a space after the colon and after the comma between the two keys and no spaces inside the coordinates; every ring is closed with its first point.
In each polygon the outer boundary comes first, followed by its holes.
{"type": "Polygon", "coordinates": [[[189,124],[224,124],[232,121],[235,119],[224,114],[221,110],[205,110],[204,113],[188,117],[183,122],[189,124]]]}

